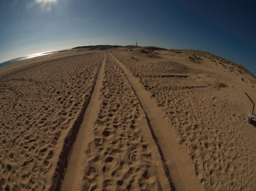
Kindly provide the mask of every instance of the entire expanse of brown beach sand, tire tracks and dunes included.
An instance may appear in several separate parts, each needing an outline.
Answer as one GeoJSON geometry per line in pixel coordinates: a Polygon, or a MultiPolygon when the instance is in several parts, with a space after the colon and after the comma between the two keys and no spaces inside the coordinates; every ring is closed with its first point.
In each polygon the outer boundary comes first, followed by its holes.
{"type": "Polygon", "coordinates": [[[77,49],[0,89],[0,190],[256,189],[256,79],[215,55],[77,49]]]}

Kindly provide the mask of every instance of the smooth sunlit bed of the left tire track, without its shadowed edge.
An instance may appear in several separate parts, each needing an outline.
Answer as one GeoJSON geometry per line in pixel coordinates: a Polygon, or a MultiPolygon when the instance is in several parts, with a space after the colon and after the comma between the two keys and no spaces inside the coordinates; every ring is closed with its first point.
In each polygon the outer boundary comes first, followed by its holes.
{"type": "MultiPolygon", "coordinates": [[[[84,144],[84,141],[86,141],[86,138],[88,135],[90,135],[90,127],[93,125],[93,122],[95,121],[95,118],[97,116],[97,109],[99,102],[97,102],[99,94],[100,94],[100,88],[102,85],[103,75],[104,75],[104,68],[105,68],[105,60],[106,60],[106,54],[104,54],[104,59],[102,61],[102,64],[100,65],[100,68],[98,70],[98,74],[96,75],[95,82],[93,85],[93,89],[91,90],[90,99],[88,99],[88,102],[86,102],[86,105],[84,106],[85,112],[81,113],[81,119],[78,120],[79,124],[77,124],[79,132],[77,133],[76,138],[72,133],[71,136],[73,137],[74,144],[72,142],[69,142],[69,145],[72,145],[72,149],[69,150],[69,159],[68,159],[68,165],[67,169],[64,175],[64,180],[62,180],[62,183],[60,187],[55,187],[53,190],[77,190],[77,187],[79,187],[79,180],[81,180],[81,168],[79,164],[82,163],[83,160],[83,151],[85,150],[84,147],[87,145],[84,144]]],[[[63,160],[63,159],[60,159],[63,160]]],[[[61,178],[61,177],[60,177],[61,178]]]]}

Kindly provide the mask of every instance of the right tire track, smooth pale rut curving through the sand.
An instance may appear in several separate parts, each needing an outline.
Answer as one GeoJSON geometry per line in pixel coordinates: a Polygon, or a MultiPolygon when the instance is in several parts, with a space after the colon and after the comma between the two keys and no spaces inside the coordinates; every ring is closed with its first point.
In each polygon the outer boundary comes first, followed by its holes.
{"type": "Polygon", "coordinates": [[[158,145],[163,165],[166,167],[165,171],[170,180],[171,188],[176,190],[204,190],[194,173],[192,173],[194,169],[189,155],[177,149],[179,137],[176,136],[175,130],[168,128],[170,124],[163,119],[161,109],[153,104],[149,93],[143,89],[137,78],[133,77],[127,68],[112,54],[111,56],[124,71],[144,109],[152,137],[158,145]],[[161,128],[162,126],[163,128],[161,128]]]}

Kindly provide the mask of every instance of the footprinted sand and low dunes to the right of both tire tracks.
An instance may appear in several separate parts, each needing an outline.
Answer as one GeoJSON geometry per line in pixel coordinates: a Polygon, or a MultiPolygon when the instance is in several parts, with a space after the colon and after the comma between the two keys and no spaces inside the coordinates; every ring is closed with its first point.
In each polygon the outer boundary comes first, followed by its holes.
{"type": "Polygon", "coordinates": [[[205,190],[255,190],[255,121],[246,123],[256,101],[247,71],[200,51],[119,49],[112,53],[165,112],[179,149],[194,163],[205,190]]]}

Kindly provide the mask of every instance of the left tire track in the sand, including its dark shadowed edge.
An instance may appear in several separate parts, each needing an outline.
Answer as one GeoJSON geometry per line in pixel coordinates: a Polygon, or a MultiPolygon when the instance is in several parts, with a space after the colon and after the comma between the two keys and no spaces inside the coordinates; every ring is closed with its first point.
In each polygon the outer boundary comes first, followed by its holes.
{"type": "Polygon", "coordinates": [[[91,123],[93,123],[93,114],[97,114],[97,109],[94,109],[94,112],[92,110],[97,107],[95,105],[97,104],[96,101],[103,79],[105,60],[106,55],[104,54],[104,59],[98,69],[95,82],[93,82],[90,97],[88,97],[88,101],[84,103],[84,109],[76,120],[76,125],[74,125],[67,139],[65,139],[65,146],[64,149],[62,149],[62,155],[58,161],[51,190],[76,190],[78,186],[79,174],[81,175],[81,169],[78,165],[81,164],[81,156],[83,156],[84,147],[86,147],[86,144],[83,144],[83,142],[89,134],[88,131],[90,131],[91,123]],[[66,167],[67,169],[64,175],[64,168],[66,167]],[[61,182],[62,178],[64,180],[61,182]]]}

